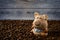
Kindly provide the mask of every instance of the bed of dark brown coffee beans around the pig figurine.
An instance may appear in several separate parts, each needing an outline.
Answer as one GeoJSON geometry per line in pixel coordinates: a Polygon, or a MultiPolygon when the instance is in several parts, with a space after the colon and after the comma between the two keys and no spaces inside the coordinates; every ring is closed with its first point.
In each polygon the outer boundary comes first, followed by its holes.
{"type": "Polygon", "coordinates": [[[33,20],[0,20],[0,40],[60,40],[60,21],[48,21],[48,36],[31,33],[33,20]]]}

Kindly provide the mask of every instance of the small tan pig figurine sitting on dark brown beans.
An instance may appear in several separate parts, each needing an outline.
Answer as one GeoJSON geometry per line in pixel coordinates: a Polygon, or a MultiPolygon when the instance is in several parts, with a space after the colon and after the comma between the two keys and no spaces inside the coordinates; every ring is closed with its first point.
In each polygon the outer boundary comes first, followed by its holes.
{"type": "Polygon", "coordinates": [[[48,35],[48,16],[46,14],[40,15],[38,12],[34,13],[34,21],[32,23],[32,30],[35,35],[48,35]]]}

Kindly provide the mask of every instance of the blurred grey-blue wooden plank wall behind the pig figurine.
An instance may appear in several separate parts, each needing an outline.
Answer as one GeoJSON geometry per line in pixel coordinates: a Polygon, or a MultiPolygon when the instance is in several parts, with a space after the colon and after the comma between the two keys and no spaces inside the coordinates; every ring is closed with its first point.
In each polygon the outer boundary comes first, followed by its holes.
{"type": "Polygon", "coordinates": [[[0,0],[0,20],[33,20],[34,12],[60,20],[60,0],[0,0]]]}

